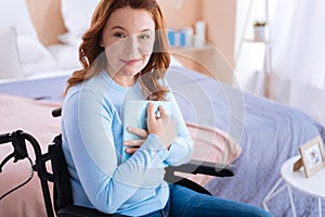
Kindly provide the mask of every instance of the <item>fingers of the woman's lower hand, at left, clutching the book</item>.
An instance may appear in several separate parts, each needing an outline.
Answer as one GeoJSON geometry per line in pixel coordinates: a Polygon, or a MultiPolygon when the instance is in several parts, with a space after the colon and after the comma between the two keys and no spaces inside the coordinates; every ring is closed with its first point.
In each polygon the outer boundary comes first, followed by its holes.
{"type": "Polygon", "coordinates": [[[144,129],[135,128],[135,127],[128,127],[127,130],[131,133],[134,133],[139,136],[142,139],[138,140],[128,140],[123,142],[123,145],[127,146],[126,152],[128,154],[134,154],[134,152],[138,151],[138,149],[143,144],[143,142],[147,138],[147,131],[144,129]]]}

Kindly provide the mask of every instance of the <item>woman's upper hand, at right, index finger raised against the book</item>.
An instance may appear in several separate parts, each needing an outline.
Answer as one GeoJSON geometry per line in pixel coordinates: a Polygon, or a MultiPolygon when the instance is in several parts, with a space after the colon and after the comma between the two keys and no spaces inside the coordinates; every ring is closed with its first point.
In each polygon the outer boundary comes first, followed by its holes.
{"type": "Polygon", "coordinates": [[[147,132],[156,135],[166,149],[169,150],[172,141],[177,137],[176,126],[168,114],[166,114],[164,107],[158,107],[160,117],[155,113],[154,103],[147,104],[147,132]]]}

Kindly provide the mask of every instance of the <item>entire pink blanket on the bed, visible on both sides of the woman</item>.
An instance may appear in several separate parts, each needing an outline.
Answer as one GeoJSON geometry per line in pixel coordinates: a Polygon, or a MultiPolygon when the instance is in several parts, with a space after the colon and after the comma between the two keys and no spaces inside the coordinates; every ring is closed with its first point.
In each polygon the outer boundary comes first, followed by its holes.
{"type": "MultiPolygon", "coordinates": [[[[60,107],[52,102],[35,101],[22,97],[0,94],[0,133],[22,129],[32,135],[41,144],[42,153],[48,144],[60,133],[60,118],[53,118],[52,110],[60,107]]],[[[194,140],[193,158],[216,163],[232,163],[242,152],[236,141],[220,129],[187,123],[194,140]]],[[[34,159],[34,152],[27,144],[28,153],[34,159]]],[[[0,161],[12,153],[11,144],[1,144],[0,161]]],[[[0,174],[0,195],[28,178],[30,167],[27,161],[8,163],[0,174]]],[[[207,183],[212,177],[199,175],[182,175],[200,184],[207,183]]],[[[0,216],[46,216],[46,209],[38,177],[22,189],[8,195],[0,202],[0,216]]]]}

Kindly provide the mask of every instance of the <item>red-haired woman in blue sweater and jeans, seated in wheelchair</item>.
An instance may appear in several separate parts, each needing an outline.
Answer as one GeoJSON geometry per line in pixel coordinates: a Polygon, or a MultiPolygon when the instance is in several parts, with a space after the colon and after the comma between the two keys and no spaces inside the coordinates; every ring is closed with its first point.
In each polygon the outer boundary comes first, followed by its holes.
{"type": "Polygon", "coordinates": [[[74,203],[127,216],[268,216],[164,180],[164,167],[188,162],[193,143],[164,80],[170,59],[161,29],[155,0],[99,3],[79,48],[83,68],[68,79],[63,105],[74,203]],[[172,115],[159,106],[158,118],[148,103],[147,130],[128,127],[142,139],[122,141],[128,100],[170,101],[172,115]]]}

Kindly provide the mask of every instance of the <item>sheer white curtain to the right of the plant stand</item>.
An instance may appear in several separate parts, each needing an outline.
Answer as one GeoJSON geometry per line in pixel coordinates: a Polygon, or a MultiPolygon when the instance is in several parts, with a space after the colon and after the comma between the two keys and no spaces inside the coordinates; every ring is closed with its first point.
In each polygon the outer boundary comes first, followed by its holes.
{"type": "Polygon", "coordinates": [[[325,123],[325,1],[277,0],[274,95],[325,123]]]}

